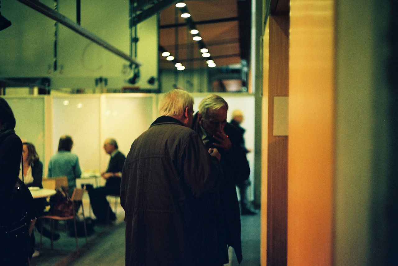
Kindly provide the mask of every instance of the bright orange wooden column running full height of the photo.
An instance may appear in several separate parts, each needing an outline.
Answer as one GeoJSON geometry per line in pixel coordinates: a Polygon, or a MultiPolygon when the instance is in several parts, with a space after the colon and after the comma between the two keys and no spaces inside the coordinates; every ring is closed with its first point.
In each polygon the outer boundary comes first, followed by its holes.
{"type": "Polygon", "coordinates": [[[287,265],[333,265],[334,1],[291,0],[287,265]]]}

